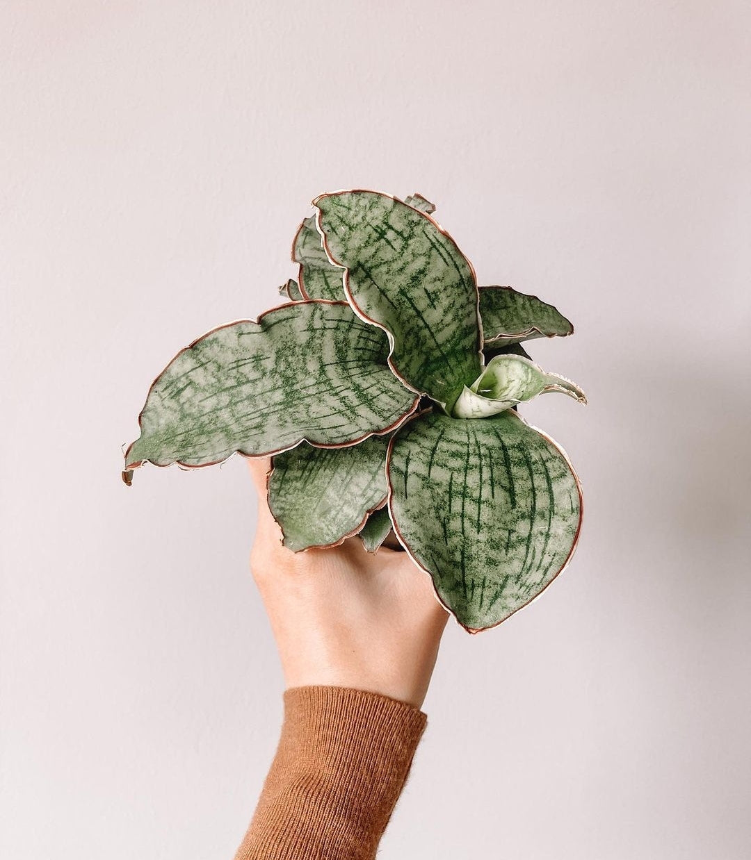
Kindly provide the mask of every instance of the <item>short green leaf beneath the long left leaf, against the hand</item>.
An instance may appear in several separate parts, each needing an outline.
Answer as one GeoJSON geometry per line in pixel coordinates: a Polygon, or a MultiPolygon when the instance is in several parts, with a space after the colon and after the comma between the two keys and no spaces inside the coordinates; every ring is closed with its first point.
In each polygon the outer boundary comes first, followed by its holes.
{"type": "Polygon", "coordinates": [[[348,448],[298,445],[274,458],[269,507],[290,550],[331,546],[386,498],[388,437],[348,448]]]}

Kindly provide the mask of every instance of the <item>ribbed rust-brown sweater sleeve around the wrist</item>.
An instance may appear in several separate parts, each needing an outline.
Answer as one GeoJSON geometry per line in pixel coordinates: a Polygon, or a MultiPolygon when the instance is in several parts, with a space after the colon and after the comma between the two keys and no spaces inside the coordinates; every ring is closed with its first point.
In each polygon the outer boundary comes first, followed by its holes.
{"type": "Polygon", "coordinates": [[[425,722],[376,693],[286,691],[282,737],[235,860],[371,860],[425,722]]]}

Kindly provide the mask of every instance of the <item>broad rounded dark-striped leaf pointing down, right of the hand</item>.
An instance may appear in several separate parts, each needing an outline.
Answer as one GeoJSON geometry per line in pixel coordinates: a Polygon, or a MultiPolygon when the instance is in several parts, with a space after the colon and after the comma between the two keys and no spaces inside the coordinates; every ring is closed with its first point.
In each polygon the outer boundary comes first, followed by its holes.
{"type": "Polygon", "coordinates": [[[388,463],[402,542],[468,630],[499,624],[565,566],[581,499],[568,460],[514,412],[402,427],[388,463]]]}

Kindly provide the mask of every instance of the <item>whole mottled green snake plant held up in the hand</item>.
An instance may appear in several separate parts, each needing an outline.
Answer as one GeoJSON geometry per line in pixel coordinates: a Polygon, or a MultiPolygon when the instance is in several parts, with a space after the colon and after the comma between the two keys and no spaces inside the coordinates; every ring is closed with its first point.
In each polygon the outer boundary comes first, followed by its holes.
{"type": "Polygon", "coordinates": [[[161,372],[123,471],[272,455],[290,550],[393,531],[469,632],[500,624],[568,563],[580,482],[517,406],[558,391],[523,341],[566,336],[555,308],[475,271],[420,195],[322,194],[296,280],[258,320],[213,329],[161,372]]]}

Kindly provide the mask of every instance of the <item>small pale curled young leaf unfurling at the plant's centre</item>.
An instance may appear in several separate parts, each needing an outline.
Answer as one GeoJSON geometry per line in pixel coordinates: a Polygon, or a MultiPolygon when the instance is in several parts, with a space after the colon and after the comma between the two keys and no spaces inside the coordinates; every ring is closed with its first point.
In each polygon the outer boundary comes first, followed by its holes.
{"type": "Polygon", "coordinates": [[[469,388],[464,386],[453,415],[486,418],[553,391],[568,394],[580,403],[587,402],[584,391],[570,379],[546,373],[534,361],[520,355],[496,355],[469,388]]]}

